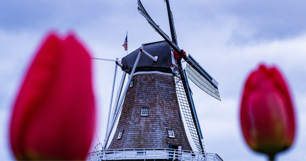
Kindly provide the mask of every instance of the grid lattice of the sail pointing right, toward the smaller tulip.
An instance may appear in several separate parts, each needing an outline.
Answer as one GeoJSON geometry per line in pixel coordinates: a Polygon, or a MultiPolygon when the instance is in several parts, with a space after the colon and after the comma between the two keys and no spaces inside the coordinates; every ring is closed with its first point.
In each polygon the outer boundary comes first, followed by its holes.
{"type": "Polygon", "coordinates": [[[188,78],[194,84],[196,84],[199,88],[201,88],[207,94],[221,101],[218,88],[212,85],[212,83],[208,81],[207,78],[203,77],[195,67],[187,63],[186,71],[187,71],[188,78]]]}

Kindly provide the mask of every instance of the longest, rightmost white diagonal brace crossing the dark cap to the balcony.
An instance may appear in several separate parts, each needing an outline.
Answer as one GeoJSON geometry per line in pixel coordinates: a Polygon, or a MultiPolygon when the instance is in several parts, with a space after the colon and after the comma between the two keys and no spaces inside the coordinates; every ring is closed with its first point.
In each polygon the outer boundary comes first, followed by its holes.
{"type": "MultiPolygon", "coordinates": [[[[143,47],[144,47],[144,45],[142,45],[140,49],[142,49],[143,47]]],[[[107,132],[106,141],[104,142],[104,146],[103,146],[103,147],[106,146],[106,144],[107,144],[107,142],[108,142],[108,140],[109,140],[109,138],[110,138],[110,133],[113,131],[115,122],[116,122],[116,120],[117,120],[117,118],[118,118],[118,114],[119,114],[119,112],[121,111],[121,108],[122,108],[122,103],[123,103],[123,100],[124,100],[124,97],[125,97],[125,93],[126,93],[126,91],[128,90],[128,88],[129,88],[129,84],[130,84],[130,82],[131,82],[131,80],[132,80],[133,74],[134,74],[135,69],[136,69],[136,67],[137,67],[138,61],[139,61],[139,59],[140,59],[140,55],[141,55],[141,52],[139,51],[138,56],[137,56],[137,58],[136,58],[136,61],[135,61],[135,63],[134,63],[134,67],[133,67],[132,72],[131,72],[131,74],[130,74],[131,76],[129,77],[129,80],[128,80],[126,86],[125,86],[125,89],[124,89],[124,91],[123,91],[122,97],[121,97],[121,99],[120,99],[120,103],[118,104],[118,107],[119,107],[119,108],[117,108],[116,112],[114,113],[114,117],[113,117],[113,119],[112,119],[112,123],[111,123],[111,126],[110,126],[110,130],[107,132]]]]}

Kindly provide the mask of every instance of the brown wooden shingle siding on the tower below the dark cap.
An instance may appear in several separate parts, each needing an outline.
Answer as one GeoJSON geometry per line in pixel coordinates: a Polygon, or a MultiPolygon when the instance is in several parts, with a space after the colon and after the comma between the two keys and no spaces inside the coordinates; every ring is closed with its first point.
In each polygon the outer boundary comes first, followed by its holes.
{"type": "Polygon", "coordinates": [[[173,77],[153,73],[137,74],[132,79],[134,86],[126,92],[109,149],[169,148],[168,144],[181,144],[182,150],[191,151],[173,77]],[[142,107],[149,107],[148,116],[141,116],[142,107]],[[175,138],[168,137],[167,129],[173,129],[175,138]],[[121,139],[117,139],[121,130],[121,139]]]}

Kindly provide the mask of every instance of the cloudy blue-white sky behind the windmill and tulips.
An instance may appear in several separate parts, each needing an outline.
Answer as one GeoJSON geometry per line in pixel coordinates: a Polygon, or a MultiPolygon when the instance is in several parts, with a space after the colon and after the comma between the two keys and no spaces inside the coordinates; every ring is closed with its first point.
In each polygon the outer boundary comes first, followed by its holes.
{"type": "MultiPolygon", "coordinates": [[[[170,36],[166,3],[142,4],[170,36]]],[[[239,120],[244,82],[265,63],[285,76],[297,122],[291,148],[276,159],[306,160],[306,1],[170,0],[170,7],[179,47],[219,83],[221,102],[190,82],[207,151],[223,160],[267,159],[248,147],[239,120]]],[[[54,30],[76,33],[92,57],[104,59],[126,55],[121,46],[126,32],[129,53],[163,40],[138,12],[136,0],[0,1],[0,160],[15,160],[8,136],[12,106],[35,52],[54,30]]],[[[92,63],[97,137],[89,151],[104,140],[115,66],[92,63]]]]}

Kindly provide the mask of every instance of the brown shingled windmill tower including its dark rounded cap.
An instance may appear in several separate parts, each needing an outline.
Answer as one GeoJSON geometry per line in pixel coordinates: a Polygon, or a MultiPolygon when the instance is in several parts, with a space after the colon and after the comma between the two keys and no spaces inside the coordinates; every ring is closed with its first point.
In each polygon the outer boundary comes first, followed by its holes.
{"type": "Polygon", "coordinates": [[[166,41],[144,44],[122,58],[123,71],[132,71],[139,53],[140,59],[130,75],[132,79],[109,148],[178,148],[181,145],[183,150],[192,150],[180,115],[170,68],[171,47],[166,41]],[[141,51],[156,57],[157,61],[149,59],[141,51]]]}

